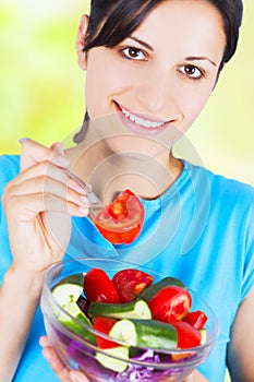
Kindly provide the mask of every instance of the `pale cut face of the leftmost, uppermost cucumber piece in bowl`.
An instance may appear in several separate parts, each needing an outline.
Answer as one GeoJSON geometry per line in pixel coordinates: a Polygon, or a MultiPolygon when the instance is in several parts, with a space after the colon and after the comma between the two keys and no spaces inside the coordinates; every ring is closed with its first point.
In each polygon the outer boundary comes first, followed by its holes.
{"type": "Polygon", "coordinates": [[[81,285],[69,283],[56,286],[56,288],[52,290],[52,296],[58,303],[63,307],[70,302],[75,302],[82,291],[83,288],[81,285]]]}

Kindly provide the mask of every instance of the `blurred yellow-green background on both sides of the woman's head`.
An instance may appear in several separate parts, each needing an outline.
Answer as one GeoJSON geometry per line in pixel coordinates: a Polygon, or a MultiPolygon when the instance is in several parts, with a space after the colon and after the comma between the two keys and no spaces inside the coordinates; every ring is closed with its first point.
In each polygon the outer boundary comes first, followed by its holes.
{"type": "MultiPolygon", "coordinates": [[[[188,138],[206,167],[254,184],[254,1],[244,5],[237,56],[188,138]]],[[[23,136],[62,141],[81,124],[75,37],[88,9],[88,0],[1,0],[0,154],[19,153],[23,136]]]]}

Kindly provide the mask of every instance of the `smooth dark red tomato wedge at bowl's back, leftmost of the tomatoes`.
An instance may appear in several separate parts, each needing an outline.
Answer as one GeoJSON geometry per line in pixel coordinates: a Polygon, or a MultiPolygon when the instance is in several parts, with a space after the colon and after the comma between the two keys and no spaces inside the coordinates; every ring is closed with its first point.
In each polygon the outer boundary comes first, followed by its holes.
{"type": "Polygon", "coordinates": [[[120,302],[120,298],[111,279],[102,270],[96,267],[89,270],[85,275],[83,288],[89,302],[120,302]]]}

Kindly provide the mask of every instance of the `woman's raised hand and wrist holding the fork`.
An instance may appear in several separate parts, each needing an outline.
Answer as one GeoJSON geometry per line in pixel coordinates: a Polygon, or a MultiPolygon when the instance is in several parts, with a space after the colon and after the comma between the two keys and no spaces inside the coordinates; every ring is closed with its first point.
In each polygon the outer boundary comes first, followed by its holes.
{"type": "Polygon", "coordinates": [[[85,216],[85,191],[64,174],[61,144],[47,148],[23,143],[21,172],[5,188],[3,206],[13,264],[24,274],[44,273],[64,254],[71,235],[71,215],[85,216]]]}

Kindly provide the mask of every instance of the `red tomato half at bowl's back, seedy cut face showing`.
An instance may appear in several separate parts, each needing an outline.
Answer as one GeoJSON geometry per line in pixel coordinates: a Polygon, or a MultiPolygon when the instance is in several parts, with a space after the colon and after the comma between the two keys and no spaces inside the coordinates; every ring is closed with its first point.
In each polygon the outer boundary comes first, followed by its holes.
{"type": "Polygon", "coordinates": [[[141,293],[148,287],[154,277],[148,273],[138,270],[122,270],[116,273],[112,278],[114,288],[121,302],[135,300],[141,293]]]}

